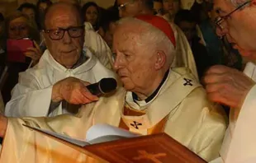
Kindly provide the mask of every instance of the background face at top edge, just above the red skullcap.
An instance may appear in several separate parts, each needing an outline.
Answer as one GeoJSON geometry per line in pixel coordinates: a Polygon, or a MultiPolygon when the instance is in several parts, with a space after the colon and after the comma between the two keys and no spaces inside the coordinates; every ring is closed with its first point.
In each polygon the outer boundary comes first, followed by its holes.
{"type": "Polygon", "coordinates": [[[175,16],[180,9],[179,0],[163,0],[164,12],[169,16],[175,16]]]}

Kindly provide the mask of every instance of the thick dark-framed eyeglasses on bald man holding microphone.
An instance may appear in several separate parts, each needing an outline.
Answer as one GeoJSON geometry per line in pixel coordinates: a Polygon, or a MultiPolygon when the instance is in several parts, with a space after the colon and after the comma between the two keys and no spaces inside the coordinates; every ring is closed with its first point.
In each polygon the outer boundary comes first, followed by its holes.
{"type": "Polygon", "coordinates": [[[61,40],[64,37],[65,32],[67,31],[71,38],[78,38],[83,35],[84,26],[72,26],[69,28],[58,28],[51,30],[43,30],[47,33],[51,40],[61,40]]]}

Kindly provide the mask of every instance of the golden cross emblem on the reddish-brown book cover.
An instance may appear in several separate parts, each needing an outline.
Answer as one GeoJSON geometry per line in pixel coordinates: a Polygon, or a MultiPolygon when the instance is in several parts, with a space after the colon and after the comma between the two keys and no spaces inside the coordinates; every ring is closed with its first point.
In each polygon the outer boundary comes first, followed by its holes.
{"type": "Polygon", "coordinates": [[[139,156],[133,157],[132,159],[135,161],[141,161],[141,160],[149,160],[153,161],[154,163],[163,163],[162,161],[159,161],[159,157],[167,156],[166,153],[157,153],[157,154],[151,154],[147,151],[138,151],[139,156]]]}

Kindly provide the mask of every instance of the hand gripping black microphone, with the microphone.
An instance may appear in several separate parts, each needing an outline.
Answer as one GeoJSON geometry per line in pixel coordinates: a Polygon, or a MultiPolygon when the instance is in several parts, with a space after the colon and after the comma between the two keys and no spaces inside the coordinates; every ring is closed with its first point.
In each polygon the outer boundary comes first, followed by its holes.
{"type": "Polygon", "coordinates": [[[53,86],[51,99],[53,102],[66,100],[73,105],[88,104],[97,101],[100,95],[115,91],[116,86],[116,80],[113,78],[103,78],[90,84],[75,77],[68,77],[53,86]]]}

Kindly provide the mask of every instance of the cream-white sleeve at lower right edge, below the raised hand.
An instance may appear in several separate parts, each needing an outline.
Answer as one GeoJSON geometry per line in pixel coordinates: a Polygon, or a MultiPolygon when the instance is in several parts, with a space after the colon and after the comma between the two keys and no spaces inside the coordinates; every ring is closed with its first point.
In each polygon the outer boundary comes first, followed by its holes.
{"type": "Polygon", "coordinates": [[[225,162],[256,162],[256,86],[247,94],[235,123],[225,162]]]}

